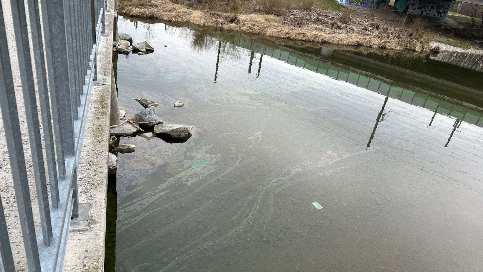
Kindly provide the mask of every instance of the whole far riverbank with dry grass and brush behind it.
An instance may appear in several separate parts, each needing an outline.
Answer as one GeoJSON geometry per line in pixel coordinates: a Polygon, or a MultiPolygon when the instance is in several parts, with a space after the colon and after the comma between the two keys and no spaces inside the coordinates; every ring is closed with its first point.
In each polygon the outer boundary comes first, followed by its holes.
{"type": "Polygon", "coordinates": [[[333,0],[119,0],[119,11],[298,41],[423,52],[430,48],[420,19],[387,20],[333,0]]]}

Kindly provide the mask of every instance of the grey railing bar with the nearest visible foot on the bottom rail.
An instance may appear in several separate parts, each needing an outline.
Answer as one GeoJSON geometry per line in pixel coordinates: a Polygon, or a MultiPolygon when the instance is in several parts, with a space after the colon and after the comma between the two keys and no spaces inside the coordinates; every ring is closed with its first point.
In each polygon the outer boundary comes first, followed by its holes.
{"type": "Polygon", "coordinates": [[[30,153],[32,155],[35,186],[37,188],[37,200],[39,202],[40,225],[42,227],[43,243],[48,246],[52,239],[52,224],[50,221],[47,181],[45,180],[45,166],[43,164],[39,116],[37,115],[37,102],[35,99],[32,61],[30,60],[30,45],[28,44],[27,17],[23,0],[12,0],[10,3],[12,6],[12,22],[15,32],[15,44],[17,46],[18,66],[24,94],[30,153]]]}

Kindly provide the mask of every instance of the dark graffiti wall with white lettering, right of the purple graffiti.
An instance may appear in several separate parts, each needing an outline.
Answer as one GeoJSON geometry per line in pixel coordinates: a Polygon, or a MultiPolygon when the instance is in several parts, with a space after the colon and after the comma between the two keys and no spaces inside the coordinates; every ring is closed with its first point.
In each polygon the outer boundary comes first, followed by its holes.
{"type": "Polygon", "coordinates": [[[394,7],[398,9],[398,12],[444,18],[450,10],[451,1],[396,0],[394,7]]]}

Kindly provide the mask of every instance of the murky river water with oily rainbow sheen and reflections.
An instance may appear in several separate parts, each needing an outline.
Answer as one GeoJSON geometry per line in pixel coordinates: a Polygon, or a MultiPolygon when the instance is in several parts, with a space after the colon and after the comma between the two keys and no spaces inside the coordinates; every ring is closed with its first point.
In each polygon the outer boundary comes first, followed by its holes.
{"type": "Polygon", "coordinates": [[[119,154],[106,265],[483,270],[481,57],[460,65],[118,25],[155,48],[119,55],[120,108],[130,116],[142,110],[134,98],[152,99],[162,120],[195,133],[178,144],[121,139],[136,151],[119,154]]]}

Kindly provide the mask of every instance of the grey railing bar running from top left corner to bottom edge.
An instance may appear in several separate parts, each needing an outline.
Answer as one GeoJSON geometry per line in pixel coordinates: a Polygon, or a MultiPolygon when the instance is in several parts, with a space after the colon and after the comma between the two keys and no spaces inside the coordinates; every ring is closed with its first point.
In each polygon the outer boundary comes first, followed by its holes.
{"type": "Polygon", "coordinates": [[[40,272],[40,258],[37,247],[35,226],[28,190],[27,169],[25,167],[22,134],[18,121],[17,102],[15,100],[14,80],[10,66],[7,35],[3,20],[3,7],[0,1],[0,110],[5,130],[5,139],[12,169],[15,197],[20,227],[24,239],[25,254],[29,271],[40,272]]]}

